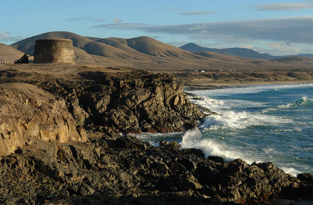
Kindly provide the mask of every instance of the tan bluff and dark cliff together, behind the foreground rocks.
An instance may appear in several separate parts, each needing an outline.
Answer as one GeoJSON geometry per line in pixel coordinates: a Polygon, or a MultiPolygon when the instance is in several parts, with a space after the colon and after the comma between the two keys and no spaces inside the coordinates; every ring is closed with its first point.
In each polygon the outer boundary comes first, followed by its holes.
{"type": "Polygon", "coordinates": [[[49,80],[44,74],[29,75],[1,72],[6,84],[1,93],[0,155],[12,153],[29,137],[86,141],[82,127],[102,132],[173,132],[197,127],[204,117],[172,75],[89,71],[49,80]]]}

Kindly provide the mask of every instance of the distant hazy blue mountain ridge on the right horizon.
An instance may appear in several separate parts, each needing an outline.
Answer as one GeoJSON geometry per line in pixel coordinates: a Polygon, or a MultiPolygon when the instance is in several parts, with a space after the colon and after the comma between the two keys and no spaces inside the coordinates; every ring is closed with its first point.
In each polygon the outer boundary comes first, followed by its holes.
{"type": "MultiPolygon", "coordinates": [[[[198,46],[197,44],[194,44],[194,43],[189,43],[179,48],[186,50],[186,51],[211,51],[211,52],[220,53],[223,55],[232,55],[232,56],[268,59],[268,60],[294,56],[294,55],[274,56],[268,53],[259,53],[253,49],[246,49],[246,48],[224,48],[224,49],[206,48],[206,47],[198,46]]],[[[313,54],[298,54],[297,56],[313,58],[313,54]]]]}

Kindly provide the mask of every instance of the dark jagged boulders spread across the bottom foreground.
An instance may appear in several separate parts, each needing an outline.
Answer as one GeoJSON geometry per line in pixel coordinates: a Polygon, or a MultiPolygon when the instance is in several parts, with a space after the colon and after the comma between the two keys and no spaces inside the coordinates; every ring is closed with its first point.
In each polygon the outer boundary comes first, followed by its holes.
{"type": "Polygon", "coordinates": [[[309,197],[313,188],[312,175],[297,179],[270,162],[221,163],[175,142],[98,134],[87,143],[37,140],[2,157],[0,203],[264,204],[297,199],[299,190],[309,197]]]}

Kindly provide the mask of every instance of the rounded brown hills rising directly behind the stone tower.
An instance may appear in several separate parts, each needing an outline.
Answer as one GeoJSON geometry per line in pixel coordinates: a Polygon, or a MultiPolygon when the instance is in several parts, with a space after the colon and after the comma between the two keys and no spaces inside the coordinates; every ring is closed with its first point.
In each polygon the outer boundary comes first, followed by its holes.
{"type": "MultiPolygon", "coordinates": [[[[25,53],[33,53],[35,40],[43,38],[66,38],[73,40],[76,61],[83,61],[90,64],[108,60],[100,59],[100,56],[111,58],[108,61],[112,61],[112,59],[121,59],[121,61],[132,60],[131,64],[140,65],[146,63],[181,65],[182,63],[178,62],[178,59],[185,59],[190,62],[194,61],[194,63],[198,64],[201,62],[197,63],[197,60],[205,60],[202,56],[195,55],[169,44],[164,44],[147,36],[130,39],[97,38],[83,37],[66,31],[54,31],[20,40],[11,46],[25,53]],[[88,56],[88,54],[93,56],[88,56]]],[[[129,65],[130,63],[127,64],[129,65]]]]}

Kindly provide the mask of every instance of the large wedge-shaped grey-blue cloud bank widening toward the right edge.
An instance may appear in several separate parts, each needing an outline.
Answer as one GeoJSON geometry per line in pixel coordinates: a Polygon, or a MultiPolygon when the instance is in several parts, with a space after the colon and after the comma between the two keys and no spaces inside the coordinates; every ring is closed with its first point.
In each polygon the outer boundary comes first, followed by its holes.
{"type": "Polygon", "coordinates": [[[191,39],[215,39],[221,42],[246,43],[251,40],[273,40],[313,44],[313,16],[238,20],[170,26],[130,28],[157,34],[184,35],[191,39]]]}

